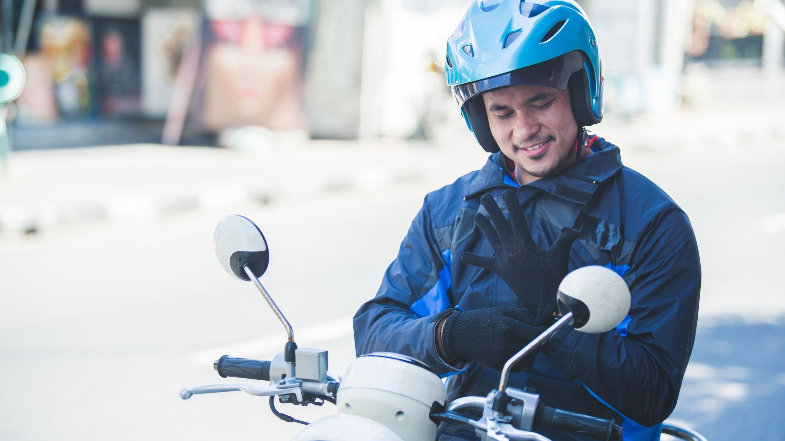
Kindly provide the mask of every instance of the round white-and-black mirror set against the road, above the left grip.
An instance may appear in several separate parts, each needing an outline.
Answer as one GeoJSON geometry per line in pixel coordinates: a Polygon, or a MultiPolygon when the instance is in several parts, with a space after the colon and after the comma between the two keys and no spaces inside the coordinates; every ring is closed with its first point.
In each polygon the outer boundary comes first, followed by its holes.
{"type": "Polygon", "coordinates": [[[250,281],[243,267],[248,267],[257,278],[267,271],[270,261],[267,241],[247,217],[232,214],[221,219],[215,227],[213,245],[218,262],[237,279],[250,281]]]}

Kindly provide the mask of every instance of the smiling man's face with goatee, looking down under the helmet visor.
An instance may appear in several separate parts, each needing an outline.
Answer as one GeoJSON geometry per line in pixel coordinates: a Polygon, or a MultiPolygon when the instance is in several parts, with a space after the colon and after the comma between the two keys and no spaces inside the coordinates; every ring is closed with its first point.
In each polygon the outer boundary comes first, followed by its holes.
{"type": "Polygon", "coordinates": [[[509,86],[483,93],[488,125],[502,152],[528,184],[568,166],[575,158],[578,123],[569,90],[509,86]]]}

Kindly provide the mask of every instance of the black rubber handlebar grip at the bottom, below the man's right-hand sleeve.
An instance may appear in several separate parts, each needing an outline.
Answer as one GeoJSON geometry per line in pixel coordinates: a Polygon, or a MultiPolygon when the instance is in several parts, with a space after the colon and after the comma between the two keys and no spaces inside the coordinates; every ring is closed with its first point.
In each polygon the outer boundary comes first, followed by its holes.
{"type": "Polygon", "coordinates": [[[602,441],[622,439],[622,428],[614,425],[614,420],[575,414],[567,410],[542,406],[535,421],[536,428],[550,428],[560,432],[589,436],[602,441]]]}

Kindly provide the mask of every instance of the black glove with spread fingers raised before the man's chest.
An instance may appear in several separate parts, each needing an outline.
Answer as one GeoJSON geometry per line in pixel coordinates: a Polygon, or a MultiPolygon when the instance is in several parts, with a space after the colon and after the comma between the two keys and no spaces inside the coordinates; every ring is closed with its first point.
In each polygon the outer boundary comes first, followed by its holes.
{"type": "Polygon", "coordinates": [[[493,225],[480,213],[474,217],[477,227],[491,243],[495,256],[463,253],[461,261],[485,268],[501,277],[524,304],[524,308],[534,313],[536,325],[553,323],[559,284],[567,275],[570,247],[578,239],[578,231],[562,228],[553,246],[547,251],[542,250],[531,239],[524,210],[520,208],[515,191],[505,191],[502,198],[507,206],[509,222],[493,196],[487,194],[480,198],[480,203],[487,210],[493,225]]]}

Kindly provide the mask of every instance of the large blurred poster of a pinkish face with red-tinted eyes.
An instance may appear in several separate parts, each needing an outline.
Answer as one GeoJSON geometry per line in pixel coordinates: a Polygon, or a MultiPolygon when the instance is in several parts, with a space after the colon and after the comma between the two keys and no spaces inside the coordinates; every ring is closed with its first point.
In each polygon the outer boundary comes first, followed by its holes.
{"type": "Polygon", "coordinates": [[[305,129],[302,104],[310,2],[206,2],[205,129],[265,126],[305,129]]]}

